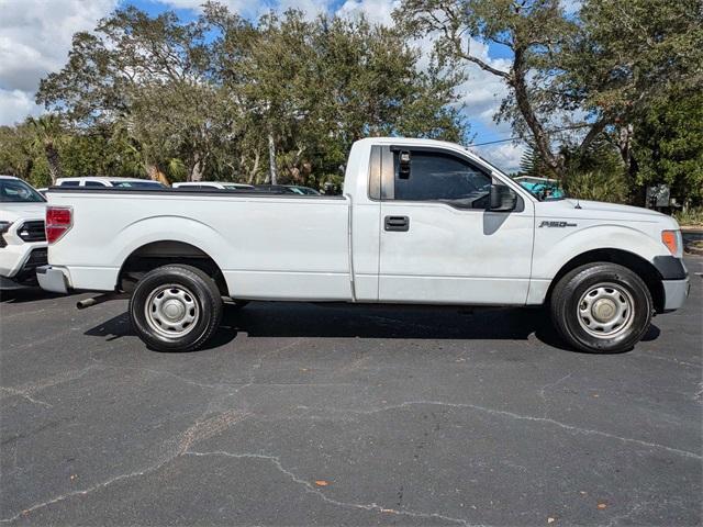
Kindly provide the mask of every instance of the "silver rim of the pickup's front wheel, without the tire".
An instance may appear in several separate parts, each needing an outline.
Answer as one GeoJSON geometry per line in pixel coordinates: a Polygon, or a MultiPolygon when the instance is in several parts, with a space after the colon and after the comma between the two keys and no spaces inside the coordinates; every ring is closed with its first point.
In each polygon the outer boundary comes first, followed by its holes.
{"type": "Polygon", "coordinates": [[[579,324],[596,338],[612,338],[624,333],[635,318],[635,302],[624,288],[599,283],[590,288],[577,307],[579,324]]]}

